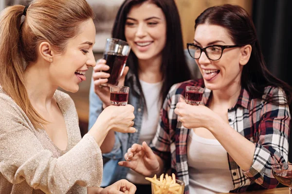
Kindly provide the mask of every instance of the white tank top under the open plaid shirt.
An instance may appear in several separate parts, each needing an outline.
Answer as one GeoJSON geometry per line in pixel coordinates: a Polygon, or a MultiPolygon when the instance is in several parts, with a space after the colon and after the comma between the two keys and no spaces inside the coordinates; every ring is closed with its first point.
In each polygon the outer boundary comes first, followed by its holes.
{"type": "Polygon", "coordinates": [[[206,139],[190,130],[187,138],[190,194],[229,193],[233,182],[227,152],[216,139],[206,139]]]}

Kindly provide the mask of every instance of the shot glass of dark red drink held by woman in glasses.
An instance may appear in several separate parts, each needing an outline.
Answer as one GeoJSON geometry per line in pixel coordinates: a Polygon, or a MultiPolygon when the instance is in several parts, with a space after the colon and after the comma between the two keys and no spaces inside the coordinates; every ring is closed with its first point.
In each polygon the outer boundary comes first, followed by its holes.
{"type": "Polygon", "coordinates": [[[196,86],[186,86],[185,102],[190,105],[199,105],[202,100],[203,92],[204,88],[196,86]]]}

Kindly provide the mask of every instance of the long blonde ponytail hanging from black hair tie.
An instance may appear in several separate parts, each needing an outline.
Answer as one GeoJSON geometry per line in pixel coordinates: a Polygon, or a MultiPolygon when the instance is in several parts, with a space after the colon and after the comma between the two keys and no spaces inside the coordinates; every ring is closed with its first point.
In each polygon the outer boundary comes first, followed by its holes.
{"type": "Polygon", "coordinates": [[[24,113],[35,128],[46,121],[33,108],[24,85],[25,62],[21,56],[21,16],[24,6],[5,8],[0,14],[0,85],[24,113]]]}

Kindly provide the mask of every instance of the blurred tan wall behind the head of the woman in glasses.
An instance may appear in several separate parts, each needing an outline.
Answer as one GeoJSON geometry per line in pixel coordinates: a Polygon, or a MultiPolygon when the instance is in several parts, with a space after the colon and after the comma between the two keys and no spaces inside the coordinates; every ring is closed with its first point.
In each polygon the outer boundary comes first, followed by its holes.
{"type": "Polygon", "coordinates": [[[250,15],[252,13],[253,0],[175,0],[182,22],[183,45],[192,43],[194,39],[195,19],[206,8],[225,3],[237,4],[243,7],[250,15]]]}

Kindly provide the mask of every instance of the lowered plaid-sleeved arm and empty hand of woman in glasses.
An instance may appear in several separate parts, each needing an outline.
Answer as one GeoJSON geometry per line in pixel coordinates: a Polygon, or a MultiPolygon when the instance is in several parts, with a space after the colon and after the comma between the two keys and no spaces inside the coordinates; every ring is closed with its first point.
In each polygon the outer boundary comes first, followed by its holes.
{"type": "Polygon", "coordinates": [[[126,161],[118,163],[120,166],[131,168],[146,177],[154,176],[154,174],[159,175],[165,169],[170,168],[170,131],[174,134],[175,130],[173,129],[176,129],[177,123],[176,115],[170,108],[173,105],[170,106],[170,104],[175,99],[175,95],[172,95],[175,94],[175,91],[176,86],[174,85],[164,100],[157,132],[150,147],[147,146],[146,142],[143,142],[142,146],[132,145],[125,154],[126,161]],[[170,121],[170,119],[173,120],[170,121]]]}

